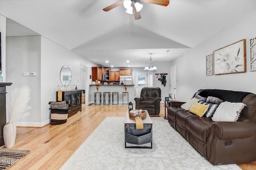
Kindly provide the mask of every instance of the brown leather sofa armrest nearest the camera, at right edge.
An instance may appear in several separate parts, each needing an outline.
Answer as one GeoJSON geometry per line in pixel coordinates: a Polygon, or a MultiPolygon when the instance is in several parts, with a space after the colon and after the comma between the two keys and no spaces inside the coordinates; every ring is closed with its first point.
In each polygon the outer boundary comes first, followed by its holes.
{"type": "Polygon", "coordinates": [[[217,128],[214,132],[219,139],[239,139],[256,135],[256,123],[253,122],[214,122],[211,128],[217,128]],[[217,131],[216,131],[217,130],[217,131]]]}

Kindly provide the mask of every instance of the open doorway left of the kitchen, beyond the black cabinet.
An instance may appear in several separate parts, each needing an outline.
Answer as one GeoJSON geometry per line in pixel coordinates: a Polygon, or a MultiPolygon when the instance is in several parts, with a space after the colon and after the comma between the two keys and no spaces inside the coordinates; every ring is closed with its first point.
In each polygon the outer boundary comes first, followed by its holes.
{"type": "Polygon", "coordinates": [[[80,82],[81,82],[81,90],[82,90],[82,106],[88,105],[89,95],[88,95],[88,67],[84,65],[80,65],[80,82]]]}

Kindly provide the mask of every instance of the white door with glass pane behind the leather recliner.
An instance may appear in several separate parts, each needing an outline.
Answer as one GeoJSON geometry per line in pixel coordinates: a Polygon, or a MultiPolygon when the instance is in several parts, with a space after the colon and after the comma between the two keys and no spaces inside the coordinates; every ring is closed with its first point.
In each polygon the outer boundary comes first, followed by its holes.
{"type": "Polygon", "coordinates": [[[136,96],[140,97],[142,88],[148,86],[148,72],[136,72],[136,96]]]}

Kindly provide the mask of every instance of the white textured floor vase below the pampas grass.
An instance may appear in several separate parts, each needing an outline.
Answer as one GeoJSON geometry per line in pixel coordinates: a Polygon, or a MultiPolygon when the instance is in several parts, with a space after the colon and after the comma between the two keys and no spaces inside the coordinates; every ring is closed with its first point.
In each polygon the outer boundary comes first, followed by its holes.
{"type": "Polygon", "coordinates": [[[4,144],[6,148],[14,146],[16,139],[16,125],[14,123],[7,123],[4,125],[4,144]]]}

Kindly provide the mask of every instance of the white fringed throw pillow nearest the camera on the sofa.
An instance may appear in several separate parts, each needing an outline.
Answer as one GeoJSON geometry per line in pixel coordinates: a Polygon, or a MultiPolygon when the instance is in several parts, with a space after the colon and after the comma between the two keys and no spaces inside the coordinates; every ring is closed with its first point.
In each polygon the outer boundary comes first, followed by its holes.
{"type": "Polygon", "coordinates": [[[246,106],[243,103],[222,102],[212,116],[213,121],[237,121],[242,109],[246,106]]]}

